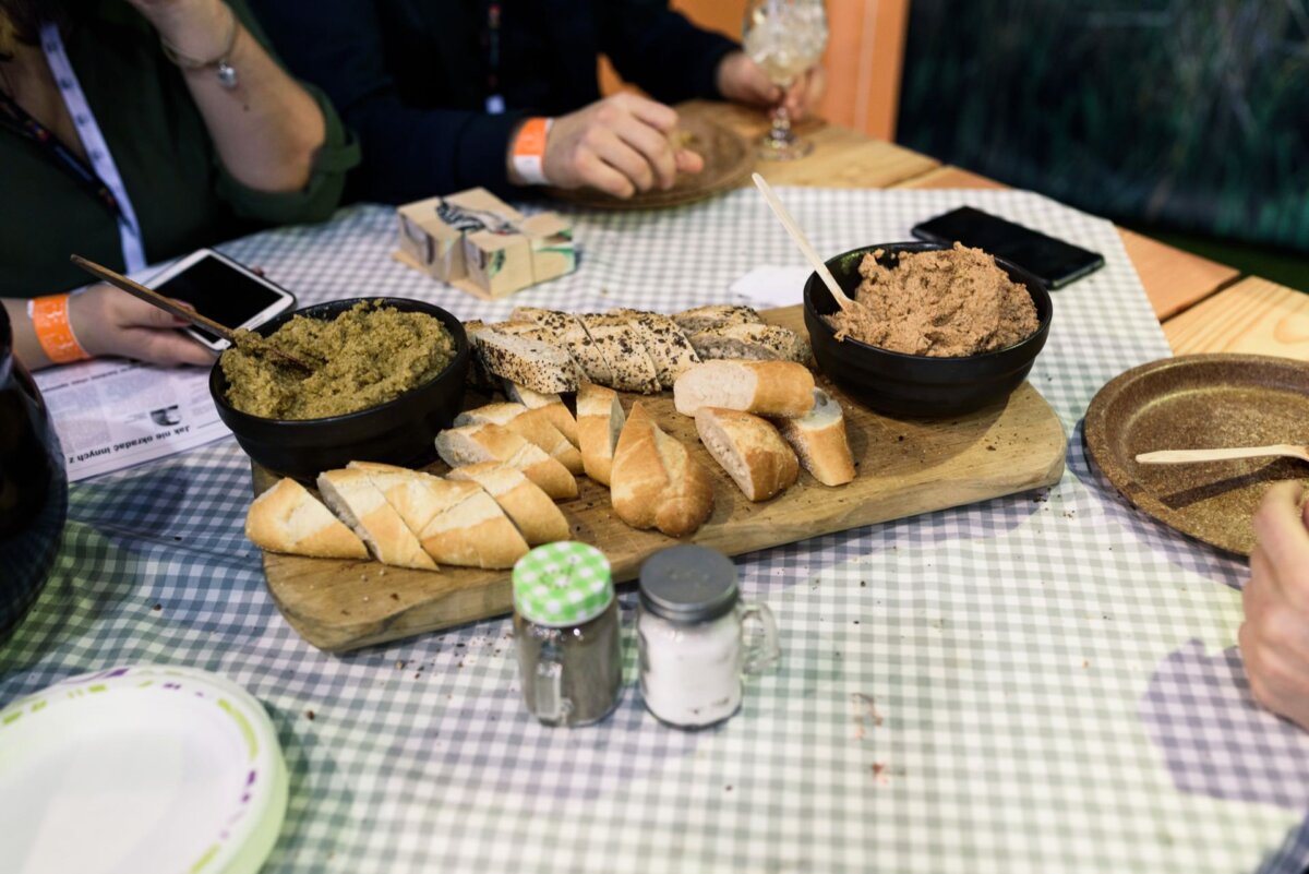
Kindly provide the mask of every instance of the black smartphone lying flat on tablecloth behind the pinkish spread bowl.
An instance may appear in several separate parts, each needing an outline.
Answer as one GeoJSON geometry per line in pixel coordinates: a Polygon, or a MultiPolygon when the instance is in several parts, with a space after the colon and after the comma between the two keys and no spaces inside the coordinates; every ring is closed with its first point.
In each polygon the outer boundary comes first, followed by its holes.
{"type": "Polygon", "coordinates": [[[933,243],[953,243],[980,249],[1025,268],[1046,284],[1063,288],[1105,266],[1103,255],[1030,228],[1005,221],[973,207],[959,207],[914,228],[914,236],[933,243]]]}

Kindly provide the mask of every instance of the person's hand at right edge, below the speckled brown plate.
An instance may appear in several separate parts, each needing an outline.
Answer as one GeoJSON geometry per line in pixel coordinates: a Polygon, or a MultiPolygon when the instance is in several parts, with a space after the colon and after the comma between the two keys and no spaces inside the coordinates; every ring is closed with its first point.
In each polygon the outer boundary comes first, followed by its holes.
{"type": "Polygon", "coordinates": [[[1241,593],[1241,656],[1259,704],[1309,729],[1309,506],[1299,483],[1268,489],[1241,593]]]}

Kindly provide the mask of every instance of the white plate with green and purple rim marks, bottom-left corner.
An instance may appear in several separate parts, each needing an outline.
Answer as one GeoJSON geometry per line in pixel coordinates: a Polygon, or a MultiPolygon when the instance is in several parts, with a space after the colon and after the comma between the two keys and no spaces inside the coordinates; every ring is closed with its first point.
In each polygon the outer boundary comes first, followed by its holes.
{"type": "Polygon", "coordinates": [[[0,871],[254,874],[287,813],[263,707],[187,667],[118,667],[0,710],[0,871]]]}

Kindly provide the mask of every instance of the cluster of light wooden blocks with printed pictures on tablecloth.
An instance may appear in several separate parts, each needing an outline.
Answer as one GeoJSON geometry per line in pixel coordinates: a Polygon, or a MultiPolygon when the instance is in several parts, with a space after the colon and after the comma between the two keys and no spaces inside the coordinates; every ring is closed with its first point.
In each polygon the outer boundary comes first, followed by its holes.
{"type": "Polygon", "coordinates": [[[399,260],[482,298],[500,298],[577,268],[572,226],[524,216],[486,188],[398,209],[399,260]]]}

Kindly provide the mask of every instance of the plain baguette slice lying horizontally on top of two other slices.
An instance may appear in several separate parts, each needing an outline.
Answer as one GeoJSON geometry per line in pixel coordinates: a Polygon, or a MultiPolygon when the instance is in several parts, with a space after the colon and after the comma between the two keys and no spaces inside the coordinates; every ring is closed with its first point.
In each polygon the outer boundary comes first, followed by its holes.
{"type": "Polygon", "coordinates": [[[813,374],[793,361],[706,361],[677,378],[673,403],[683,416],[700,407],[804,416],[814,406],[813,391],[813,374]]]}

